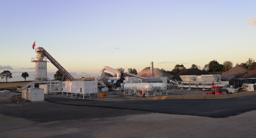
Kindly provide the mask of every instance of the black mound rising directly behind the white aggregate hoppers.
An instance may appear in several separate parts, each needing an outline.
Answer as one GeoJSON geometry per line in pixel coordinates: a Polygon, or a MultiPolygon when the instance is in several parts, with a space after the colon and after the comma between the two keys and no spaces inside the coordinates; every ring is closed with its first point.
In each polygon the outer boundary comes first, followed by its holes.
{"type": "Polygon", "coordinates": [[[181,81],[182,79],[179,77],[180,75],[209,75],[209,73],[196,68],[189,68],[186,70],[182,70],[180,73],[174,75],[171,79],[181,81]]]}

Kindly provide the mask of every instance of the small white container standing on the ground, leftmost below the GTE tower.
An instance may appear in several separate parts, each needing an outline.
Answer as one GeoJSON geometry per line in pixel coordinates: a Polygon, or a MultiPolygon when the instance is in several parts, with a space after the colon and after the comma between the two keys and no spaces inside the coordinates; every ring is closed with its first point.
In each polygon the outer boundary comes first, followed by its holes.
{"type": "Polygon", "coordinates": [[[44,101],[44,89],[27,88],[22,91],[21,97],[31,102],[44,101]]]}

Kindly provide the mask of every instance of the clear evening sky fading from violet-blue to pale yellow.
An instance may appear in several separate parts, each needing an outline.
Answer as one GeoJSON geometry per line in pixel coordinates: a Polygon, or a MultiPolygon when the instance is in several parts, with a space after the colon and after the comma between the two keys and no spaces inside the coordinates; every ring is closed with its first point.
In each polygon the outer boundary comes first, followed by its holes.
{"type": "MultiPolygon", "coordinates": [[[[0,72],[34,80],[32,45],[74,78],[103,66],[172,70],[255,59],[255,0],[0,0],[0,72]]],[[[47,63],[53,78],[57,68],[47,63]]],[[[106,71],[108,72],[108,71],[106,71]]],[[[110,72],[108,72],[110,73],[110,72]]],[[[113,74],[113,73],[111,73],[113,74]]],[[[3,79],[4,80],[4,79],[3,79]]],[[[1,80],[1,81],[3,81],[1,80]]]]}

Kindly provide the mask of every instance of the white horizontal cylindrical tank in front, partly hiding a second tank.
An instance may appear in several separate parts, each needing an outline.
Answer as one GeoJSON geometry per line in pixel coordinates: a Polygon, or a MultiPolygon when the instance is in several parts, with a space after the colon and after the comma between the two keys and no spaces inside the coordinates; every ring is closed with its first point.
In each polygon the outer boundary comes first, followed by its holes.
{"type": "Polygon", "coordinates": [[[151,83],[125,83],[124,90],[140,90],[145,92],[152,92],[154,85],[151,83]]]}

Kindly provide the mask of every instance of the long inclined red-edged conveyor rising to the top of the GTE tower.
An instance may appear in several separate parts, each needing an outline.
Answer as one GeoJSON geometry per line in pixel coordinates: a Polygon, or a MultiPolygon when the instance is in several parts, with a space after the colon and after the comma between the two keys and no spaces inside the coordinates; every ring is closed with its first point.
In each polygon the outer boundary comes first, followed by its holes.
{"type": "Polygon", "coordinates": [[[36,48],[36,52],[42,52],[51,61],[51,63],[58,68],[62,74],[65,74],[70,81],[76,81],[76,79],[67,72],[44,48],[36,48]]]}

